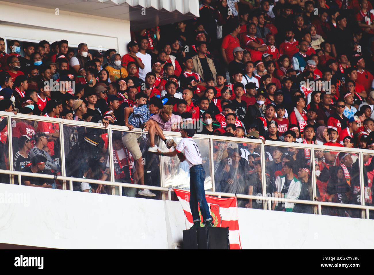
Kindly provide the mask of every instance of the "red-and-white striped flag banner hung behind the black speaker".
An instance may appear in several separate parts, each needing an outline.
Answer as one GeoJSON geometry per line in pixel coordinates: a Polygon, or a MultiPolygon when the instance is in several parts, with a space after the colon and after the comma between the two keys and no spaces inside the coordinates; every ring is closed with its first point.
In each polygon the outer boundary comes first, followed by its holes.
{"type": "MultiPolygon", "coordinates": [[[[186,227],[189,229],[193,225],[193,219],[190,208],[190,192],[181,189],[174,189],[175,194],[182,205],[186,215],[186,227]]],[[[230,249],[242,249],[239,236],[239,222],[237,214],[237,200],[232,198],[216,198],[205,195],[206,202],[212,216],[213,226],[229,227],[230,249]]],[[[203,217],[199,207],[200,220],[203,217]]],[[[201,224],[202,225],[202,224],[201,224]]]]}

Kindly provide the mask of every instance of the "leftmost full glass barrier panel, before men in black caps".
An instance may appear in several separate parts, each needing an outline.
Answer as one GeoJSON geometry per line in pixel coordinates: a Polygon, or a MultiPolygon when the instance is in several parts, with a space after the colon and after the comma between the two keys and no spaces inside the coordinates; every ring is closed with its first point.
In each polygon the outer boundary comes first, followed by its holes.
{"type": "MultiPolygon", "coordinates": [[[[14,170],[61,175],[59,123],[12,118],[11,125],[14,170]]],[[[22,177],[22,184],[62,189],[62,182],[53,179],[22,177]]]]}

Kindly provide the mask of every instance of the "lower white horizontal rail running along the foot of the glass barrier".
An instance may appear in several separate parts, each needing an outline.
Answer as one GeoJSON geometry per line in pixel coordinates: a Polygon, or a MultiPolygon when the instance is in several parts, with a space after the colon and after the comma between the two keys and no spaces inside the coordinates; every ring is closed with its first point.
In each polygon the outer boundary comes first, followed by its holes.
{"type": "MultiPolygon", "coordinates": [[[[105,184],[111,186],[122,186],[122,187],[131,187],[131,188],[145,188],[150,190],[157,190],[157,191],[164,191],[170,192],[173,191],[171,187],[160,187],[160,186],[150,186],[150,185],[141,185],[141,184],[132,184],[132,183],[117,183],[113,181],[102,181],[102,180],[92,180],[88,178],[74,178],[74,177],[63,177],[63,176],[54,176],[54,175],[45,175],[45,174],[37,174],[37,173],[29,173],[29,172],[22,172],[22,171],[8,171],[0,169],[0,174],[7,174],[7,175],[21,175],[21,176],[28,176],[28,177],[39,177],[39,178],[49,178],[49,179],[58,179],[58,180],[66,180],[66,181],[75,181],[75,182],[88,182],[88,183],[95,183],[95,184],[105,184]]],[[[322,205],[322,206],[330,206],[330,207],[345,207],[345,208],[357,208],[357,209],[368,209],[374,210],[374,206],[368,205],[356,205],[356,204],[338,204],[335,202],[320,202],[320,201],[306,201],[306,200],[298,200],[298,199],[287,199],[287,198],[275,198],[275,197],[264,197],[264,196],[255,196],[255,195],[244,195],[244,194],[234,194],[234,193],[223,193],[223,192],[211,192],[205,191],[206,195],[211,196],[224,196],[224,197],[234,197],[240,199],[255,199],[255,200],[262,200],[262,201],[271,201],[271,202],[294,202],[298,204],[309,204],[309,205],[322,205]]]]}

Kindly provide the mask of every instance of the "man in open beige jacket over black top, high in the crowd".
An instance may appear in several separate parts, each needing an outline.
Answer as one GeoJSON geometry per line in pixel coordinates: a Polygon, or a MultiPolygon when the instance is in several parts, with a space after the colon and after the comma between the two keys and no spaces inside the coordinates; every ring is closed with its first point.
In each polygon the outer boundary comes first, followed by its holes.
{"type": "Polygon", "coordinates": [[[217,85],[217,80],[215,79],[217,71],[215,70],[213,60],[206,57],[206,52],[208,51],[206,49],[206,42],[201,41],[196,43],[196,50],[197,55],[192,57],[194,72],[198,73],[204,81],[210,76],[213,77],[214,85],[217,85]]]}

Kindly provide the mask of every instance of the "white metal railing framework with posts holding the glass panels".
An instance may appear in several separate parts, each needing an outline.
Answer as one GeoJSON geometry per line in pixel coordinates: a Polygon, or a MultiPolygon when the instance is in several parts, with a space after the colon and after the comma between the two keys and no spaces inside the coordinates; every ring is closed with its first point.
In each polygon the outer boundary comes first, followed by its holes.
{"type": "MultiPolygon", "coordinates": [[[[119,183],[116,182],[114,179],[114,164],[113,164],[113,143],[112,143],[112,132],[113,131],[121,131],[121,132],[128,132],[128,128],[125,126],[117,126],[117,125],[109,125],[107,128],[108,133],[108,155],[109,155],[109,165],[110,165],[110,180],[108,181],[101,181],[101,180],[92,180],[92,179],[82,179],[82,178],[75,178],[75,177],[67,177],[65,173],[65,154],[64,154],[64,125],[73,125],[73,126],[83,126],[83,127],[90,127],[90,128],[104,128],[102,124],[99,123],[91,123],[91,122],[81,122],[76,120],[65,120],[65,119],[57,119],[53,117],[42,117],[42,116],[30,116],[25,114],[13,114],[9,112],[0,112],[0,117],[7,119],[7,140],[8,140],[8,154],[9,154],[9,168],[10,170],[1,170],[0,174],[7,174],[11,177],[11,184],[14,184],[14,176],[17,176],[18,178],[18,184],[22,184],[22,176],[27,177],[42,177],[46,179],[57,179],[61,180],[63,182],[62,187],[64,190],[73,190],[73,182],[88,182],[93,184],[105,184],[112,186],[112,194],[115,194],[115,187],[132,187],[132,188],[146,188],[150,190],[157,190],[161,191],[163,194],[168,193],[168,198],[171,200],[171,192],[173,192],[173,189],[171,187],[165,186],[165,167],[164,162],[162,161],[163,158],[159,156],[159,164],[160,164],[160,183],[161,186],[151,186],[151,185],[140,185],[140,184],[132,184],[132,183],[119,183]],[[59,130],[60,130],[60,154],[61,154],[61,175],[47,175],[47,174],[34,174],[34,173],[27,173],[23,171],[13,171],[13,146],[12,146],[12,120],[14,119],[25,119],[25,120],[35,120],[38,122],[54,122],[59,124],[59,130]],[[67,188],[66,183],[69,183],[69,187],[67,188]]],[[[137,132],[139,134],[144,134],[145,132],[142,132],[141,129],[135,128],[131,132],[137,132]]],[[[164,135],[167,137],[176,137],[180,138],[180,133],[178,132],[169,132],[164,131],[164,135]]],[[[221,136],[214,136],[214,135],[202,135],[202,134],[196,134],[194,136],[196,139],[202,139],[202,140],[208,140],[209,144],[209,169],[210,169],[210,175],[212,179],[212,189],[213,191],[206,191],[207,195],[212,196],[218,196],[218,197],[230,197],[230,196],[237,196],[237,198],[240,199],[252,199],[257,201],[264,201],[266,203],[263,203],[263,209],[264,210],[272,210],[271,203],[272,202],[290,202],[290,203],[297,203],[297,204],[304,204],[304,205],[312,205],[314,207],[314,213],[315,214],[322,214],[321,206],[326,207],[339,207],[339,208],[351,208],[351,209],[360,209],[362,210],[362,218],[369,219],[369,211],[374,210],[374,206],[371,205],[365,205],[364,199],[361,199],[360,204],[342,204],[342,203],[335,203],[335,202],[323,202],[323,201],[316,201],[316,177],[315,177],[315,165],[311,165],[312,171],[311,171],[311,180],[312,180],[312,189],[313,189],[313,200],[307,201],[307,200],[301,200],[301,199],[288,199],[288,198],[276,198],[276,197],[269,197],[266,195],[266,159],[265,156],[265,146],[276,146],[276,147],[295,147],[300,149],[310,149],[310,158],[311,160],[315,159],[314,150],[331,150],[333,152],[348,152],[348,153],[355,153],[359,156],[359,173],[360,173],[360,192],[361,192],[361,198],[364,198],[364,178],[363,178],[363,155],[374,155],[374,152],[372,150],[365,150],[365,149],[356,149],[356,148],[344,148],[344,147],[332,147],[332,146],[321,146],[321,145],[315,145],[315,144],[301,144],[301,143],[285,143],[285,142],[279,142],[279,141],[261,141],[261,140],[253,140],[253,139],[243,139],[243,138],[234,138],[234,137],[221,137],[221,136]],[[232,141],[234,143],[252,143],[257,144],[260,146],[260,156],[261,156],[261,175],[262,175],[262,196],[258,195],[245,195],[245,194],[239,194],[239,193],[223,193],[223,192],[215,192],[215,179],[214,179],[214,150],[213,150],[213,142],[214,141],[224,141],[229,142],[232,141]]],[[[314,162],[312,161],[312,164],[314,162]]],[[[122,195],[122,188],[118,188],[119,195],[122,195]]],[[[166,199],[165,196],[163,196],[163,199],[166,199]]]]}

